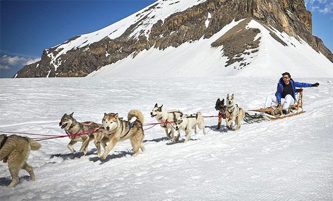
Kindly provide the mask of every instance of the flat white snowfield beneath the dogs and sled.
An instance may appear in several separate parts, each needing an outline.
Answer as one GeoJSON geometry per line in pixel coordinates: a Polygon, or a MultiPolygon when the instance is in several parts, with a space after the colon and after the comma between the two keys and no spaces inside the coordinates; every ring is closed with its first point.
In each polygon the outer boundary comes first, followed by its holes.
{"type": "MultiPolygon", "coordinates": [[[[78,121],[100,123],[104,112],[126,118],[135,108],[145,123],[153,123],[155,103],[217,115],[215,101],[228,93],[245,109],[259,108],[274,94],[280,73],[261,78],[1,79],[0,131],[64,135],[59,121],[72,111],[78,121]]],[[[224,121],[217,131],[217,118],[206,118],[207,135],[192,134],[186,144],[184,133],[171,144],[155,126],[145,131],[146,151],[134,158],[129,141],[118,143],[106,160],[96,156],[93,143],[83,156],[70,153],[68,138],[41,141],[42,148],[28,159],[36,181],[26,181],[21,170],[20,183],[7,189],[9,171],[0,163],[0,200],[333,200],[333,79],[295,81],[320,83],[304,89],[304,114],[243,122],[238,132],[227,131],[224,121]]]]}

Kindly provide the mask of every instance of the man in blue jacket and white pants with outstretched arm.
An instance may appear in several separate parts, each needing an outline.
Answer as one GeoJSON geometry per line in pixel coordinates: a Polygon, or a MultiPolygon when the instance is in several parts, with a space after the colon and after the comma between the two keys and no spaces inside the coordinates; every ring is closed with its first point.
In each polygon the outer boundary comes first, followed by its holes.
{"type": "MultiPolygon", "coordinates": [[[[290,105],[295,104],[295,90],[296,87],[318,87],[319,83],[309,84],[309,83],[300,83],[295,82],[291,79],[291,76],[288,72],[282,74],[282,77],[277,84],[277,89],[275,96],[269,95],[266,99],[264,108],[271,107],[272,104],[277,104],[276,107],[280,107],[281,104],[283,109],[289,108],[290,105]]],[[[287,110],[283,110],[286,114],[287,110]]]]}

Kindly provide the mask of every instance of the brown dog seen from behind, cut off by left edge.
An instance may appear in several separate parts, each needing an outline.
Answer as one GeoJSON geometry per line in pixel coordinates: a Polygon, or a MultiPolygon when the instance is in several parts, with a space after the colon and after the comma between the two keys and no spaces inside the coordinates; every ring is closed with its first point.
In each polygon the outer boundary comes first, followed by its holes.
{"type": "Polygon", "coordinates": [[[34,140],[18,135],[0,135],[0,161],[8,163],[8,169],[11,176],[11,183],[8,188],[14,187],[18,183],[18,172],[24,169],[30,174],[32,181],[35,180],[32,166],[26,161],[30,150],[36,151],[41,145],[34,140]]]}

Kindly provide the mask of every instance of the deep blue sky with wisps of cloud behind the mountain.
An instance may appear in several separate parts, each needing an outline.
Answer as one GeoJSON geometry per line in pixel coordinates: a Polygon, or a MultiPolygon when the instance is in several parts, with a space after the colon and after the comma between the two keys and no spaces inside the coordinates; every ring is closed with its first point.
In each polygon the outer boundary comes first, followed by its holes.
{"type": "MultiPolygon", "coordinates": [[[[156,0],[0,1],[0,77],[12,77],[42,51],[104,28],[156,0]]],[[[313,34],[333,50],[333,0],[305,0],[313,34]]]]}

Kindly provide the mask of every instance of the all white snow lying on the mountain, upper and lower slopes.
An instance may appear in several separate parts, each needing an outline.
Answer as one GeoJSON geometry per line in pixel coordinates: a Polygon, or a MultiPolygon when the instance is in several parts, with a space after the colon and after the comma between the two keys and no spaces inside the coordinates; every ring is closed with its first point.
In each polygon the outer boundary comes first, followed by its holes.
{"type": "MultiPolygon", "coordinates": [[[[87,47],[83,51],[88,50],[88,45],[101,41],[105,37],[116,39],[136,23],[133,30],[130,30],[129,38],[138,39],[140,35],[144,35],[149,40],[149,33],[159,20],[164,22],[170,15],[205,1],[159,0],[108,27],[83,34],[74,40],[53,47],[52,51],[47,50],[48,57],[51,58],[50,65],[57,71],[57,68],[66,62],[66,60],[60,59],[61,55],[85,46],[87,47]]],[[[212,14],[208,12],[205,22],[206,28],[211,18],[212,14]]],[[[153,47],[141,51],[134,58],[133,52],[116,63],[108,64],[90,73],[88,77],[128,77],[133,75],[138,77],[220,77],[262,74],[275,76],[282,71],[289,71],[299,77],[333,77],[333,63],[321,52],[313,50],[299,37],[290,37],[273,27],[264,27],[255,20],[251,20],[247,27],[260,30],[255,38],[255,40],[260,40],[258,51],[250,54],[247,54],[250,51],[244,52],[242,57],[245,59],[243,61],[225,67],[228,58],[224,55],[223,46],[212,48],[211,44],[243,20],[231,22],[209,39],[201,38],[198,41],[190,41],[191,43],[184,43],[177,48],[168,47],[165,50],[153,47]],[[269,31],[275,33],[287,46],[285,47],[273,39],[269,31]],[[238,69],[242,63],[248,65],[238,69]]],[[[160,37],[164,37],[163,34],[160,37]]],[[[105,56],[108,55],[110,53],[106,51],[105,56]]],[[[46,77],[50,75],[50,72],[51,69],[46,77]]]]}

